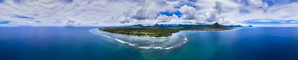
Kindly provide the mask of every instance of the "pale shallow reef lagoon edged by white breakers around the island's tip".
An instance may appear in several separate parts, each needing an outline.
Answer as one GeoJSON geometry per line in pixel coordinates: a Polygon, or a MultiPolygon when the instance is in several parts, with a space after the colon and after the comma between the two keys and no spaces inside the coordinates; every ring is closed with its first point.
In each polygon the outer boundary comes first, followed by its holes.
{"type": "Polygon", "coordinates": [[[144,48],[144,49],[171,49],[187,42],[186,36],[182,35],[180,32],[174,33],[170,37],[151,38],[151,37],[138,37],[138,36],[113,34],[113,33],[100,31],[98,29],[91,29],[89,31],[94,34],[98,34],[100,36],[105,36],[108,39],[119,41],[123,44],[128,44],[136,48],[144,48]]]}

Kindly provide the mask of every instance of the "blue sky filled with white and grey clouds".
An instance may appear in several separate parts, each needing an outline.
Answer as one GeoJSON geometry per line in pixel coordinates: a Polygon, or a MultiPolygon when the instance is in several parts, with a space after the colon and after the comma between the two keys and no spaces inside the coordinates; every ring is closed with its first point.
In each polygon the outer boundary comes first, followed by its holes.
{"type": "Polygon", "coordinates": [[[298,0],[0,0],[0,26],[298,26],[298,0]]]}

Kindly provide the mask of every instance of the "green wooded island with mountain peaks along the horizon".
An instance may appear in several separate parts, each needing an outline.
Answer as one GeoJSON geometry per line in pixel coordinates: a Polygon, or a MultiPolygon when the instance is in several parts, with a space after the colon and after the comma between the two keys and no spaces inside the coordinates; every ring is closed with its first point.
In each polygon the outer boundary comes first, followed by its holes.
{"type": "MultiPolygon", "coordinates": [[[[159,25],[155,24],[153,26],[143,26],[141,24],[132,25],[132,26],[121,26],[121,27],[105,27],[100,28],[100,31],[105,31],[114,34],[124,34],[130,36],[143,36],[143,37],[168,37],[173,33],[184,31],[184,30],[196,30],[196,31],[224,31],[235,29],[234,27],[243,27],[243,26],[225,26],[220,25],[217,22],[215,24],[209,25],[159,25]]],[[[252,26],[247,26],[252,27],[252,26]]]]}

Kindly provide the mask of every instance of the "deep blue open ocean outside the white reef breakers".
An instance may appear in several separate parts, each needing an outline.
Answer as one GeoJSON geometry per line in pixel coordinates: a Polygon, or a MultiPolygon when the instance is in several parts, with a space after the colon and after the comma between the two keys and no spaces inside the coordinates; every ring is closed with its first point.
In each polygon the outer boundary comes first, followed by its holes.
{"type": "Polygon", "coordinates": [[[298,59],[298,27],[180,31],[185,44],[150,52],[89,31],[95,28],[103,27],[0,27],[0,60],[298,59]]]}

